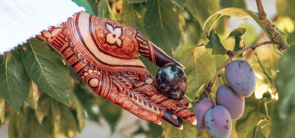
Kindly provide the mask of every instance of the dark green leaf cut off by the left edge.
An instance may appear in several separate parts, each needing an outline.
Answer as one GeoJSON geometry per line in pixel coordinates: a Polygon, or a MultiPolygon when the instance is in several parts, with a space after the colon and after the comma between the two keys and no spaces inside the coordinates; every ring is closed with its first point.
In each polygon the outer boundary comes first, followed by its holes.
{"type": "Polygon", "coordinates": [[[19,112],[30,90],[30,77],[24,68],[20,48],[0,55],[0,96],[19,112]]]}

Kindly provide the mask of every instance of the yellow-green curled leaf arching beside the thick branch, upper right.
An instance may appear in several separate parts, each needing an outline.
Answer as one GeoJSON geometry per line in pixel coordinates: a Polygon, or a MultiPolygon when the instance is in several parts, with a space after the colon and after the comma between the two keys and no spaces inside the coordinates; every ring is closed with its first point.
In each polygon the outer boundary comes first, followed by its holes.
{"type": "MultiPolygon", "coordinates": [[[[223,15],[228,15],[228,16],[231,16],[231,17],[237,17],[237,18],[249,18],[249,17],[252,17],[256,23],[261,27],[261,29],[264,31],[265,34],[267,34],[268,38],[270,40],[273,40],[273,38],[270,37],[270,34],[268,32],[268,30],[266,29],[266,27],[263,25],[263,23],[259,20],[258,18],[258,13],[256,12],[253,12],[253,11],[250,11],[250,10],[246,10],[246,9],[240,9],[240,8],[225,8],[225,9],[222,9],[214,14],[212,14],[204,23],[203,25],[203,30],[205,29],[205,25],[207,22],[209,22],[209,25],[211,25],[211,27],[209,29],[211,29],[213,27],[213,25],[216,23],[216,21],[221,18],[223,15]],[[211,18],[214,16],[214,15],[217,15],[217,14],[221,14],[213,24],[211,24],[211,18]]],[[[272,24],[274,24],[272,21],[271,21],[272,24]]],[[[284,40],[286,41],[287,40],[287,35],[285,32],[281,31],[278,27],[276,27],[276,30],[280,33],[280,35],[282,35],[282,37],[284,38],[284,40]]],[[[276,47],[275,47],[276,51],[278,53],[281,53],[276,47]]]]}

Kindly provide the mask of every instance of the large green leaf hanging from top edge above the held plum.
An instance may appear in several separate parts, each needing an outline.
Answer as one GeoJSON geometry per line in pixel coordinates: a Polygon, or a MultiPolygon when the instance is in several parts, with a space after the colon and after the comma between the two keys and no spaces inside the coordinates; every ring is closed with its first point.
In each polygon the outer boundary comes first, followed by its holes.
{"type": "Polygon", "coordinates": [[[144,26],[147,35],[153,43],[172,56],[172,49],[178,47],[181,39],[179,15],[168,0],[149,0],[145,6],[144,26]]]}

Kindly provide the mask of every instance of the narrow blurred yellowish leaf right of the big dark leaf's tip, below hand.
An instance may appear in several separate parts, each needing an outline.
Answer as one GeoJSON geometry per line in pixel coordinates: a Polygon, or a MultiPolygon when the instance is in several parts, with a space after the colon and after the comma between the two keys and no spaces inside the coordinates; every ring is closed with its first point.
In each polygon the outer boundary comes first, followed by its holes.
{"type": "Polygon", "coordinates": [[[83,106],[77,96],[73,93],[70,93],[70,103],[71,109],[72,111],[74,111],[74,115],[78,123],[79,132],[81,133],[85,127],[85,115],[83,106]]]}

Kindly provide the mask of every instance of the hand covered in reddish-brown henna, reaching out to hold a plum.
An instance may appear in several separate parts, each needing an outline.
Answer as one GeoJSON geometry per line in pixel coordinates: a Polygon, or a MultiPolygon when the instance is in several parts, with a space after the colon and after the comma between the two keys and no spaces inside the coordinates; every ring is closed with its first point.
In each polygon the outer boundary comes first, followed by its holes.
{"type": "Polygon", "coordinates": [[[138,30],[81,12],[38,37],[57,50],[96,94],[135,116],[156,124],[163,119],[180,129],[181,118],[196,125],[195,115],[187,109],[191,104],[161,94],[135,52],[160,67],[184,67],[138,30]]]}

